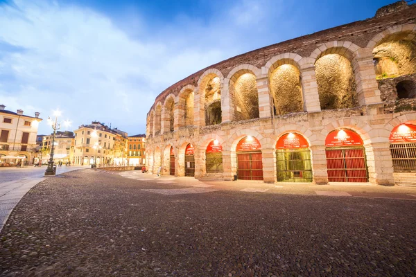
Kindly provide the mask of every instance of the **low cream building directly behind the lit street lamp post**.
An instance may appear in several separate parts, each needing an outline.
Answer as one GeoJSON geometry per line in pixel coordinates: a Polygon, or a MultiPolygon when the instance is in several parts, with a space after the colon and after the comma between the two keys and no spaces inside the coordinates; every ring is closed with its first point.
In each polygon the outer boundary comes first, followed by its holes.
{"type": "MultiPolygon", "coordinates": [[[[42,164],[47,164],[51,157],[52,134],[43,136],[41,161],[42,164]]],[[[75,145],[75,136],[73,132],[57,131],[55,134],[55,147],[53,148],[53,161],[55,163],[73,163],[73,147],[75,145]]]]}

